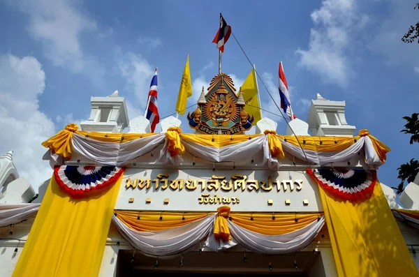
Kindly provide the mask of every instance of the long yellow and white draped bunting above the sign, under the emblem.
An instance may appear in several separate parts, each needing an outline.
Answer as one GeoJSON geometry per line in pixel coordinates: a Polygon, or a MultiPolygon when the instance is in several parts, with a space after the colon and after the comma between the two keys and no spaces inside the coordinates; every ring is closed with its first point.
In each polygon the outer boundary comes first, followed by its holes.
{"type": "MultiPolygon", "coordinates": [[[[70,124],[71,125],[71,124],[70,124]]],[[[160,163],[182,163],[182,154],[188,152],[210,162],[246,160],[262,157],[262,165],[277,169],[285,153],[316,165],[350,160],[358,153],[365,154],[365,162],[372,167],[385,162],[390,151],[382,142],[361,130],[356,137],[304,137],[277,135],[266,130],[259,135],[197,135],[181,133],[179,128],[169,128],[166,133],[107,134],[87,133],[67,126],[57,135],[43,142],[50,149],[45,158],[59,162],[56,155],[71,158],[79,154],[94,163],[122,166],[132,163],[160,147],[160,163]],[[363,150],[363,151],[362,151],[363,150]]]]}

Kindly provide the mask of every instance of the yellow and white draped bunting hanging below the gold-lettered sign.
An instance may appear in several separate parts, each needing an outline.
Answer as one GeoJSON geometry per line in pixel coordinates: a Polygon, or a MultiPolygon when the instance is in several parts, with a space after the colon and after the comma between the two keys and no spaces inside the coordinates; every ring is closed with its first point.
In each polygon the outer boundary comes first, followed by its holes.
{"type": "Polygon", "coordinates": [[[179,255],[205,238],[203,246],[215,251],[240,244],[267,255],[295,253],[325,223],[323,214],[275,214],[272,219],[272,214],[229,214],[229,208],[224,214],[115,211],[112,220],[135,249],[153,257],[179,255]]]}

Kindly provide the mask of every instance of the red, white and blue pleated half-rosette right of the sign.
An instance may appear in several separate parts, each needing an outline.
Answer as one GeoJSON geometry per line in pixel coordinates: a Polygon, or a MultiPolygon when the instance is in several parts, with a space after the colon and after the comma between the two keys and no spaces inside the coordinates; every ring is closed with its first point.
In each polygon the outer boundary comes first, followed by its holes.
{"type": "Polygon", "coordinates": [[[307,170],[324,190],[351,202],[371,197],[377,181],[375,170],[317,169],[307,170]]]}

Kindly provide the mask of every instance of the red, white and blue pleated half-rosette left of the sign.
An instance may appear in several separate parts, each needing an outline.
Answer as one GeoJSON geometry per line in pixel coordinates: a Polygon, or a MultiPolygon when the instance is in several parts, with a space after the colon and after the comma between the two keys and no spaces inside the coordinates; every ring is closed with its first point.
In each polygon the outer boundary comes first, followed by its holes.
{"type": "Polygon", "coordinates": [[[54,167],[57,184],[73,197],[113,184],[124,168],[115,166],[61,165],[54,167]]]}

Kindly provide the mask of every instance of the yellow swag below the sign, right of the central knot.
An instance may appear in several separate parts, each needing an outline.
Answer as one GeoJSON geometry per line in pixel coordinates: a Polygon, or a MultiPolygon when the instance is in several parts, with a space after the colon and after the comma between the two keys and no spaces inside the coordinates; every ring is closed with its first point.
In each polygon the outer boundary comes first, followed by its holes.
{"type": "Polygon", "coordinates": [[[313,223],[323,213],[315,214],[267,214],[267,213],[231,213],[233,222],[247,230],[270,236],[286,234],[313,223]],[[272,219],[274,216],[274,220],[272,219]],[[253,220],[251,220],[253,218],[253,220]],[[298,219],[295,222],[295,218],[298,219]]]}

